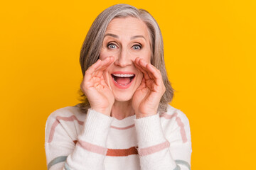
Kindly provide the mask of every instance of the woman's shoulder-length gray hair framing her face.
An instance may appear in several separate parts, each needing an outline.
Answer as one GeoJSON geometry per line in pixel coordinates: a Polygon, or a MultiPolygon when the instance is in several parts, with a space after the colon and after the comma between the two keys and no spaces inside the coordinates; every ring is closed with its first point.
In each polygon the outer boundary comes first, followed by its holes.
{"type": "MultiPolygon", "coordinates": [[[[172,89],[166,74],[164,42],[158,23],[156,23],[153,16],[144,9],[138,9],[128,4],[117,4],[106,8],[99,16],[97,16],[86,35],[80,51],[82,76],[84,77],[85,71],[99,59],[105,30],[110,21],[112,21],[113,18],[125,18],[128,16],[142,20],[149,29],[151,39],[151,64],[160,70],[164,85],[166,86],[166,91],[161,98],[158,111],[166,112],[167,105],[171,102],[174,96],[174,89],[172,89]]],[[[90,108],[90,103],[87,101],[87,98],[81,89],[79,90],[79,93],[81,97],[80,101],[82,101],[79,105],[80,111],[82,111],[82,113],[87,113],[87,109],[90,108]]]]}

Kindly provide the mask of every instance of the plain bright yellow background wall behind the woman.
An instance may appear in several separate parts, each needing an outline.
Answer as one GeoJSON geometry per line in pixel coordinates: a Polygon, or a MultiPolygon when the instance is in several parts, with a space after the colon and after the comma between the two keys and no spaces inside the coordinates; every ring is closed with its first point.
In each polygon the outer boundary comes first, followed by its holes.
{"type": "Polygon", "coordinates": [[[46,169],[46,119],[78,103],[82,42],[118,3],[159,23],[172,106],[191,124],[192,169],[255,169],[254,0],[2,1],[1,169],[46,169]]]}

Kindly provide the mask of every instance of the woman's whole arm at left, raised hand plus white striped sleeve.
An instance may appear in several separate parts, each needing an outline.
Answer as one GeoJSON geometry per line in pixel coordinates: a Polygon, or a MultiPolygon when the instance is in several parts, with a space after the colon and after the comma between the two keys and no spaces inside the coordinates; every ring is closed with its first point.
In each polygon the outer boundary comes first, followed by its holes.
{"type": "MultiPolygon", "coordinates": [[[[87,112],[87,118],[80,134],[77,134],[77,127],[69,129],[68,123],[62,124],[60,116],[53,114],[48,118],[46,123],[48,169],[63,169],[63,166],[68,170],[104,169],[103,163],[107,154],[105,142],[112,122],[110,111],[114,103],[114,96],[102,75],[113,61],[114,57],[98,60],[85,72],[80,87],[87,96],[92,109],[87,112]],[[78,135],[76,145],[70,135],[75,136],[73,138],[78,135]],[[58,162],[62,163],[55,165],[58,162]]],[[[72,116],[70,118],[72,119],[72,116]]]]}

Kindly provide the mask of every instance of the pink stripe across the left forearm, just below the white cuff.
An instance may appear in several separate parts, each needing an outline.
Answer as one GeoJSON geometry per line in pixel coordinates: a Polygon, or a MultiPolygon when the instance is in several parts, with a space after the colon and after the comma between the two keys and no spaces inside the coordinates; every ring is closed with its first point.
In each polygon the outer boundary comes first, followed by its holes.
{"type": "Polygon", "coordinates": [[[77,145],[86,149],[87,151],[90,151],[90,152],[94,152],[97,154],[103,154],[103,155],[107,154],[107,148],[100,147],[99,145],[93,145],[89,142],[85,142],[85,141],[81,141],[81,140],[78,140],[77,145]]]}

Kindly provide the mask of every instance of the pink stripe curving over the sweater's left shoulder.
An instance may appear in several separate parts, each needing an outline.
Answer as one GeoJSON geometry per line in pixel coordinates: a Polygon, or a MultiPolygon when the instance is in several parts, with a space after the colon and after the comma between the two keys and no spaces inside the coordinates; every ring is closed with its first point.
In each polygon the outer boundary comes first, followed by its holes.
{"type": "Polygon", "coordinates": [[[70,117],[56,116],[56,120],[53,123],[52,127],[50,128],[50,135],[49,135],[48,143],[53,141],[55,128],[60,123],[60,120],[64,120],[64,121],[75,121],[75,120],[77,120],[79,125],[83,125],[83,122],[78,120],[78,118],[76,118],[75,115],[71,115],[70,117]]]}

